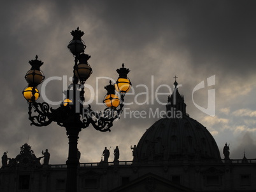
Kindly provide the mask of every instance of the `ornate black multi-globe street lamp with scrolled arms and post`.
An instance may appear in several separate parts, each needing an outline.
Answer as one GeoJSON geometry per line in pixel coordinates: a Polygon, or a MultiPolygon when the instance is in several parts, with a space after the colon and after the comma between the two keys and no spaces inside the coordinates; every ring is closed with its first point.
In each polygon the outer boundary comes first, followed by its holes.
{"type": "Polygon", "coordinates": [[[83,85],[92,74],[92,68],[88,64],[90,55],[84,53],[86,46],[81,38],[83,34],[84,32],[80,31],[79,28],[71,32],[73,39],[69,42],[68,49],[75,57],[73,83],[69,85],[68,90],[64,91],[66,98],[57,109],[52,109],[46,102],[36,102],[40,96],[38,85],[45,79],[43,72],[40,70],[43,62],[38,60],[37,55],[35,60],[29,61],[32,67],[25,75],[29,85],[22,92],[29,104],[29,120],[31,125],[42,127],[55,121],[61,127],[66,128],[69,139],[69,153],[68,160],[66,161],[66,191],[69,192],[77,190],[76,174],[79,162],[76,152],[79,132],[82,128],[89,127],[89,125],[92,125],[101,132],[110,132],[113,121],[119,118],[122,113],[125,93],[131,88],[131,81],[127,78],[129,69],[126,69],[123,64],[122,68],[117,69],[119,78],[115,85],[111,85],[110,82],[110,85],[105,86],[108,93],[104,97],[103,102],[107,108],[97,113],[92,111],[90,105],[89,107],[83,107],[83,102],[85,101],[83,85]],[[118,106],[119,109],[117,109],[118,106]]]}

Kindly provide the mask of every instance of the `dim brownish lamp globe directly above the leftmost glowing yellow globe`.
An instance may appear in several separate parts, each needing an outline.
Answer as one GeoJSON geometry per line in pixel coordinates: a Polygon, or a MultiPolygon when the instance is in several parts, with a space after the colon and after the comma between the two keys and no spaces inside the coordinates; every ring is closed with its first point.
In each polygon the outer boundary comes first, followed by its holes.
{"type": "Polygon", "coordinates": [[[43,79],[45,79],[43,72],[37,69],[31,69],[27,71],[27,74],[25,74],[25,80],[32,86],[38,86],[43,82],[43,79]]]}

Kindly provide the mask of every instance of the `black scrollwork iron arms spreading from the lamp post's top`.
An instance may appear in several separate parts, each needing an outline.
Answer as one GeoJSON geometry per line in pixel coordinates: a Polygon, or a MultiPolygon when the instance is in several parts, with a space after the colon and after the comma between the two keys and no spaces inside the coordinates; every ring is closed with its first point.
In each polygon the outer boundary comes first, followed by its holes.
{"type": "Polygon", "coordinates": [[[110,132],[113,121],[120,118],[120,114],[122,114],[122,107],[120,109],[106,108],[100,113],[93,111],[90,105],[82,107],[80,113],[75,113],[73,108],[75,106],[60,105],[57,109],[52,109],[46,102],[29,102],[29,120],[32,122],[31,125],[38,127],[47,126],[55,121],[61,127],[68,127],[75,123],[77,127],[87,128],[91,124],[100,132],[110,132]]]}

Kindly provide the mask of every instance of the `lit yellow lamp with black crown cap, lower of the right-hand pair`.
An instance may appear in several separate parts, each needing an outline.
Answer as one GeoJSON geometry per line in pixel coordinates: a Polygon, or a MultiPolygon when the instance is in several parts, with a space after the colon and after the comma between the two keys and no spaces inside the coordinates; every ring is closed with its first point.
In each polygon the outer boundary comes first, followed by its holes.
{"type": "Polygon", "coordinates": [[[115,94],[115,86],[111,85],[111,81],[110,81],[110,85],[107,85],[104,88],[108,92],[104,97],[103,103],[105,104],[106,107],[117,108],[120,104],[120,99],[118,95],[115,94]]]}

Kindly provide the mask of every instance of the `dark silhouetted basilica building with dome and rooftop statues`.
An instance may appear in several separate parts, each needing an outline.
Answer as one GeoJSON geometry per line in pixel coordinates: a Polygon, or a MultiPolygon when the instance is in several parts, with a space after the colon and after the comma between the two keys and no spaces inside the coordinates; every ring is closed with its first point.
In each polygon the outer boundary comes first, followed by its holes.
{"type": "MultiPolygon", "coordinates": [[[[227,145],[222,159],[207,128],[186,113],[177,85],[166,117],[131,146],[133,160],[80,163],[78,191],[256,191],[256,159],[232,160],[227,145]]],[[[65,191],[66,165],[41,165],[41,158],[29,144],[20,147],[0,170],[0,191],[65,191]]]]}

